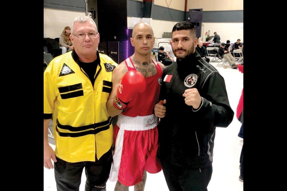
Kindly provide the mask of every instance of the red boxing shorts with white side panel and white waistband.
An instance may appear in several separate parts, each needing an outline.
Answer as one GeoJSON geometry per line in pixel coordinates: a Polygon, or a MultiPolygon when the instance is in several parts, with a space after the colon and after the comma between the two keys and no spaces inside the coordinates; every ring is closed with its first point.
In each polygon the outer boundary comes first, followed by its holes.
{"type": "Polygon", "coordinates": [[[120,114],[115,126],[115,151],[110,181],[133,186],[142,181],[144,170],[161,171],[158,151],[158,124],[154,114],[129,117],[120,114]]]}

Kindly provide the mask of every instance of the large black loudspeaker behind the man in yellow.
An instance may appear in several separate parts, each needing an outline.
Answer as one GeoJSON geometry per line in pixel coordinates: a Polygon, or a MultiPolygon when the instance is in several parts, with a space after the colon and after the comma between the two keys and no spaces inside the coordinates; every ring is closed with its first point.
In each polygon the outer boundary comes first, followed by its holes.
{"type": "Polygon", "coordinates": [[[100,41],[126,41],[126,0],[88,0],[88,12],[94,19],[100,41]]]}

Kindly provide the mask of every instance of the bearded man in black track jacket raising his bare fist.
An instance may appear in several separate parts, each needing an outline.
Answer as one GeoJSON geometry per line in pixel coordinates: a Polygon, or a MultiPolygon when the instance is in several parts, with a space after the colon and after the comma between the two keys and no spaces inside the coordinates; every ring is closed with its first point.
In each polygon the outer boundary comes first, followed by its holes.
{"type": "Polygon", "coordinates": [[[224,78],[195,51],[197,41],[193,24],[175,24],[171,44],[177,59],[163,72],[154,108],[161,118],[158,154],[169,190],[207,190],[215,129],[228,127],[234,115],[224,78]]]}

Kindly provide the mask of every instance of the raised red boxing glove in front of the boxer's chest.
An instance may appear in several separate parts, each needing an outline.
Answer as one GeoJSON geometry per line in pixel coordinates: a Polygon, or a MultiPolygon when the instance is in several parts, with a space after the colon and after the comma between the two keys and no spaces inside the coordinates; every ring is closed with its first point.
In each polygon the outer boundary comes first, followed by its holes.
{"type": "Polygon", "coordinates": [[[117,88],[117,96],[113,102],[114,107],[123,110],[136,93],[143,93],[145,90],[144,76],[136,70],[127,71],[117,88]]]}

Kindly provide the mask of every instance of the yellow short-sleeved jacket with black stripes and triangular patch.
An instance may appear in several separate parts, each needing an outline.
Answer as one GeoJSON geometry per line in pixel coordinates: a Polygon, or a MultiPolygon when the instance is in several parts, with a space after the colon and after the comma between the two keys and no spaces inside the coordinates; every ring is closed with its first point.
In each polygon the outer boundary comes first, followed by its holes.
{"type": "Polygon", "coordinates": [[[112,146],[112,119],[106,103],[117,64],[99,54],[92,85],[75,51],[54,58],[44,72],[44,119],[53,115],[55,154],[68,162],[95,161],[112,146]]]}

